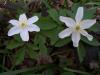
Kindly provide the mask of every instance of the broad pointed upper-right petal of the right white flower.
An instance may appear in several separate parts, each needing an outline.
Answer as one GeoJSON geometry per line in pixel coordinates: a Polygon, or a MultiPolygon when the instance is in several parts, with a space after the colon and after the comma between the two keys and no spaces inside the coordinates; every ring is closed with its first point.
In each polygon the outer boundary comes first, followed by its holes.
{"type": "Polygon", "coordinates": [[[93,24],[95,24],[95,23],[96,23],[96,19],[94,19],[94,20],[83,20],[82,23],[81,23],[81,28],[82,29],[88,29],[91,26],[93,26],[93,24]]]}

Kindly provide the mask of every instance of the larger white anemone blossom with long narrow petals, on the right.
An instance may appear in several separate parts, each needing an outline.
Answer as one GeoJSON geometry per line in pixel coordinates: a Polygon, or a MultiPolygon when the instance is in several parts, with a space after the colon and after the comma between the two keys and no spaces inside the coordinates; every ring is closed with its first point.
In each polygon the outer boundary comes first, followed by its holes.
{"type": "Polygon", "coordinates": [[[96,19],[82,20],[83,12],[84,12],[83,7],[79,7],[76,12],[75,20],[73,20],[70,17],[64,17],[64,16],[60,16],[60,18],[59,18],[60,21],[64,22],[65,25],[68,27],[59,33],[59,35],[58,35],[59,38],[63,39],[65,37],[68,37],[71,35],[71,39],[73,41],[74,47],[78,47],[78,44],[79,44],[79,41],[81,38],[81,34],[83,36],[87,37],[89,41],[92,41],[92,39],[93,39],[93,36],[88,34],[87,31],[84,29],[88,29],[93,24],[95,24],[96,19]]]}

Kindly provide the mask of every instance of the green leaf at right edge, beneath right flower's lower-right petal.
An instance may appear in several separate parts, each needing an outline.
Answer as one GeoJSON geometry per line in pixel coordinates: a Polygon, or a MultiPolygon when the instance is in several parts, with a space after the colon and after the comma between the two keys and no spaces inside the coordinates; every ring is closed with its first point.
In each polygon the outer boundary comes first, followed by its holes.
{"type": "Polygon", "coordinates": [[[100,46],[100,42],[96,38],[93,38],[92,41],[89,41],[86,37],[82,37],[81,40],[91,46],[100,46]]]}

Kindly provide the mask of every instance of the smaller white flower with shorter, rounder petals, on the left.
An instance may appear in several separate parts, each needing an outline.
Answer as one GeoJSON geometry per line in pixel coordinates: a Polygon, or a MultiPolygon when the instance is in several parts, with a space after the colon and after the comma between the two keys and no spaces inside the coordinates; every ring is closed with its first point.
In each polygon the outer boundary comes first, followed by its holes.
{"type": "Polygon", "coordinates": [[[29,33],[32,31],[39,32],[40,28],[33,24],[36,21],[38,21],[37,16],[33,16],[29,19],[27,19],[25,14],[21,14],[19,16],[19,21],[12,19],[9,21],[13,25],[13,27],[8,31],[8,36],[12,36],[15,34],[20,34],[21,38],[23,41],[28,41],[29,40],[29,33]]]}

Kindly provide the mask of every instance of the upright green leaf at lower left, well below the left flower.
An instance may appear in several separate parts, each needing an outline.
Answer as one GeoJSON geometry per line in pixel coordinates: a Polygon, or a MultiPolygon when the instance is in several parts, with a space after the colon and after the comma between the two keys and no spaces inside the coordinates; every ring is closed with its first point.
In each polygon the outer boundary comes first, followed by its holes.
{"type": "Polygon", "coordinates": [[[25,49],[26,48],[23,47],[17,51],[15,56],[15,65],[21,64],[23,62],[25,56],[25,49]]]}

